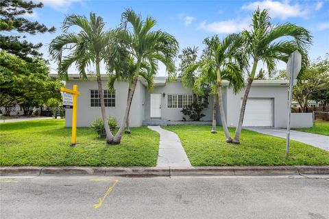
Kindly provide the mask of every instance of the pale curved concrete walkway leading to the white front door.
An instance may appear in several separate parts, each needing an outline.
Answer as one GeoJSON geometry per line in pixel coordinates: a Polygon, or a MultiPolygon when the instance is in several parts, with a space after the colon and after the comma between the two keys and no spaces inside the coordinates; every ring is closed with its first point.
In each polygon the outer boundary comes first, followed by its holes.
{"type": "Polygon", "coordinates": [[[180,138],[172,131],[161,129],[160,126],[148,126],[149,129],[160,133],[160,146],[156,166],[191,166],[184,151],[180,138]]]}

